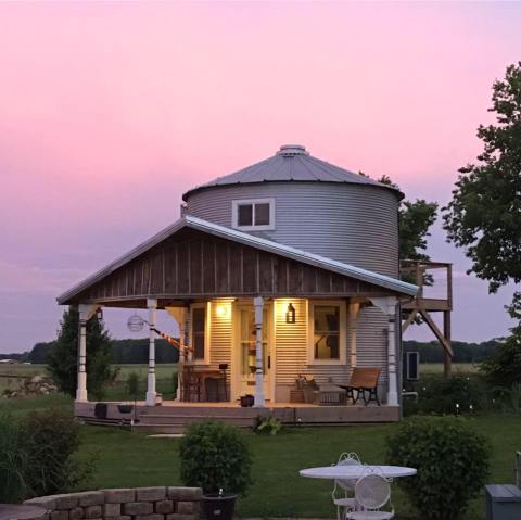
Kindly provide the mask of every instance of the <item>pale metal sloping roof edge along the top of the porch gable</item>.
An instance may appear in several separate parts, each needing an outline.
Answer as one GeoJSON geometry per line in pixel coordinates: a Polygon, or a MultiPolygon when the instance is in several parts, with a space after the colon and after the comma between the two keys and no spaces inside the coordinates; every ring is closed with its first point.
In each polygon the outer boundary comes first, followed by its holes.
{"type": "Polygon", "coordinates": [[[160,242],[163,242],[167,238],[185,228],[202,231],[221,239],[231,240],[243,245],[249,245],[262,251],[302,262],[303,264],[320,267],[322,269],[344,275],[356,280],[372,283],[373,286],[389,289],[402,294],[415,296],[418,292],[418,287],[411,283],[187,215],[174,223],[171,226],[168,226],[158,233],[154,234],[151,239],[147,240],[142,244],[130,250],[127,254],[109,264],[106,267],[103,267],[94,275],[74,286],[68,291],[60,294],[60,296],[56,299],[58,303],[62,305],[74,296],[77,296],[80,292],[107,277],[119,267],[123,267],[136,257],[152,249],[154,245],[157,245],[160,242]]]}

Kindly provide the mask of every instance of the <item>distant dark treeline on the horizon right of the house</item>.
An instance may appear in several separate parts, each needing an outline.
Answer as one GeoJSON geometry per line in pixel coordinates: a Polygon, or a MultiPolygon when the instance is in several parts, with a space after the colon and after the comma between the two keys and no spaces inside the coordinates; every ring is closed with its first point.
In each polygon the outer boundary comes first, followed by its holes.
{"type": "MultiPolygon", "coordinates": [[[[501,340],[490,340],[482,343],[453,341],[454,363],[480,363],[497,348],[501,340]]],[[[418,351],[420,363],[443,363],[443,348],[437,341],[404,341],[404,351],[418,351]]]]}

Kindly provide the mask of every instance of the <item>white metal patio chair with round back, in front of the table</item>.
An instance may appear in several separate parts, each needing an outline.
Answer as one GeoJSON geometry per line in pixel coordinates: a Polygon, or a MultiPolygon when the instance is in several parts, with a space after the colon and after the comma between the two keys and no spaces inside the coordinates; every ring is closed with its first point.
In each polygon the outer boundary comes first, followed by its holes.
{"type": "Polygon", "coordinates": [[[347,511],[347,520],[390,520],[394,517],[391,485],[378,473],[366,474],[355,485],[356,510],[347,511]],[[391,504],[391,511],[381,508],[391,504]]]}

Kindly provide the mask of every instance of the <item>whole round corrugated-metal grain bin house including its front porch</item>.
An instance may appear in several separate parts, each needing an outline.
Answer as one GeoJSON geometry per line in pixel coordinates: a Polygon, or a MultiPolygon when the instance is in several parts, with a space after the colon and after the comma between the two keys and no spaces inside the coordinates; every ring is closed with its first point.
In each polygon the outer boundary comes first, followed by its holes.
{"type": "Polygon", "coordinates": [[[293,144],[189,190],[179,220],[59,297],[80,312],[76,414],[125,419],[117,403],[89,403],[85,372],[86,320],[125,307],[148,309],[148,391],[132,411],[143,427],[175,431],[196,417],[247,426],[259,407],[285,422],[397,420],[395,324],[417,293],[398,279],[402,196],[293,144]],[[157,309],[187,346],[178,398],[162,406],[157,309]],[[344,404],[355,367],[379,369],[382,406],[344,404]],[[218,403],[207,402],[212,380],[218,403]],[[302,398],[303,386],[314,399],[302,398]],[[246,395],[252,408],[239,406],[246,395]]]}

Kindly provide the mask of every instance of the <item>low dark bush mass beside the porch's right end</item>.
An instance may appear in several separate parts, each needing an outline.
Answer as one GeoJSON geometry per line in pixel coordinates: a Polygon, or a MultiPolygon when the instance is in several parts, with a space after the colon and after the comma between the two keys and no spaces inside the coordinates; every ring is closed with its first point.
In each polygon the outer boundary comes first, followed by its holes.
{"type": "Polygon", "coordinates": [[[490,406],[490,390],[476,376],[454,375],[449,379],[444,379],[442,375],[432,375],[417,383],[415,390],[418,392],[418,403],[404,402],[406,416],[466,414],[490,406]]]}

